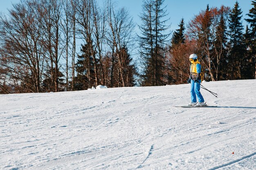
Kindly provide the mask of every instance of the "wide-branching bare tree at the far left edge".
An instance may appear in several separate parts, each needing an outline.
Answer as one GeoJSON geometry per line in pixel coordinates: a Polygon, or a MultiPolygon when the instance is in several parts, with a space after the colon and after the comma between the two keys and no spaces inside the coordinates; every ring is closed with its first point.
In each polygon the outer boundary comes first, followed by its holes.
{"type": "Polygon", "coordinates": [[[13,5],[9,18],[0,17],[0,34],[3,68],[8,77],[16,79],[13,86],[22,85],[25,91],[41,92],[40,79],[43,58],[41,18],[37,15],[38,3],[27,0],[13,5]]]}

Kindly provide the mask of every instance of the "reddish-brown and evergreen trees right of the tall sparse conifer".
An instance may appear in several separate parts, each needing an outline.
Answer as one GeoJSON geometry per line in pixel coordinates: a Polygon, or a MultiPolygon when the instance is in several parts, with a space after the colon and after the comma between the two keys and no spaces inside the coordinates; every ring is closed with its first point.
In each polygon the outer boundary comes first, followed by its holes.
{"type": "Polygon", "coordinates": [[[256,1],[246,15],[245,32],[238,2],[232,9],[207,5],[186,28],[182,19],[168,53],[171,82],[186,82],[191,53],[200,57],[207,81],[256,79],[256,1]]]}

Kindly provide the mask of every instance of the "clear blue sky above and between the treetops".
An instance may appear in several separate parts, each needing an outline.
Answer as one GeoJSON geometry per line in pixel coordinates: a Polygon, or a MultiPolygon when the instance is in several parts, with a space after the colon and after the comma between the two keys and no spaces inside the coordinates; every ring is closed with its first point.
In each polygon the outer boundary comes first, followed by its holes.
{"type": "MultiPolygon", "coordinates": [[[[99,4],[102,4],[105,0],[97,0],[99,4]]],[[[134,22],[140,24],[139,14],[142,10],[142,0],[112,0],[115,1],[118,7],[126,7],[130,11],[134,22]]],[[[7,9],[12,8],[12,3],[18,3],[20,0],[0,0],[0,11],[7,13],[7,9]]],[[[201,10],[205,10],[207,4],[209,7],[220,7],[222,4],[233,8],[236,0],[165,0],[167,5],[166,9],[169,13],[169,23],[171,24],[171,30],[178,28],[181,18],[184,18],[184,22],[188,23],[194,15],[198,14],[201,10]]],[[[243,18],[247,18],[246,14],[249,9],[252,8],[251,0],[238,0],[240,8],[243,11],[243,18]]],[[[247,23],[243,21],[245,26],[247,23]]]]}

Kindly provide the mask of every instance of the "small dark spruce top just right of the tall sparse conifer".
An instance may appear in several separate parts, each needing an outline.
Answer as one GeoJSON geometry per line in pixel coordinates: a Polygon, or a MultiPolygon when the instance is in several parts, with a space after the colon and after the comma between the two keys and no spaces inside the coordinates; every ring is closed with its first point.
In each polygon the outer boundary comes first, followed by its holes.
{"type": "Polygon", "coordinates": [[[184,26],[184,19],[182,18],[180,21],[180,24],[178,25],[180,29],[176,29],[176,31],[173,33],[173,38],[171,41],[171,45],[178,45],[178,44],[184,44],[185,42],[185,36],[184,36],[184,31],[185,31],[185,26],[184,26]]]}

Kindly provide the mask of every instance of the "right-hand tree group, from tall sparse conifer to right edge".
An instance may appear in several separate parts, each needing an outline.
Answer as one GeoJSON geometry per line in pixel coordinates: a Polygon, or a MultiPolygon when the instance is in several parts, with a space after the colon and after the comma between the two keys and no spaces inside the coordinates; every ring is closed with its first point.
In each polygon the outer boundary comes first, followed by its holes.
{"type": "Polygon", "coordinates": [[[166,42],[168,20],[164,0],[144,0],[139,37],[141,85],[162,86],[186,83],[189,55],[196,53],[207,81],[256,79],[256,1],[247,14],[244,32],[242,11],[234,7],[206,6],[166,42]],[[168,44],[167,44],[168,43],[168,44]]]}

